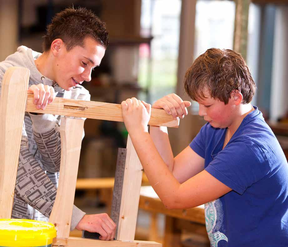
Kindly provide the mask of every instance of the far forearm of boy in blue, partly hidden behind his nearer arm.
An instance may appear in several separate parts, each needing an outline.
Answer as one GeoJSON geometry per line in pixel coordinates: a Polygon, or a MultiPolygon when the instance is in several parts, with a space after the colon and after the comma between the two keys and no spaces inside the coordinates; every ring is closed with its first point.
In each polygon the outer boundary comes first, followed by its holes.
{"type": "Polygon", "coordinates": [[[172,172],[174,166],[174,156],[169,141],[167,127],[150,125],[149,132],[160,156],[167,164],[169,170],[172,172]]]}

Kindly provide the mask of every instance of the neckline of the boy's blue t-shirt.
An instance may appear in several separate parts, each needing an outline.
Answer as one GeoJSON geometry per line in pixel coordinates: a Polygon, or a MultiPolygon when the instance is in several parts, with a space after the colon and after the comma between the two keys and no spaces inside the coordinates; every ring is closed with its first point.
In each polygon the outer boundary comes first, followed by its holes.
{"type": "MultiPolygon", "coordinates": [[[[261,112],[259,111],[258,107],[253,106],[254,107],[254,111],[250,112],[247,116],[245,116],[245,118],[242,120],[242,122],[240,123],[238,129],[235,131],[235,133],[233,134],[232,138],[229,140],[229,142],[227,143],[226,146],[229,145],[230,141],[234,138],[236,138],[238,136],[238,132],[243,128],[243,125],[245,125],[248,121],[251,120],[251,118],[254,118],[255,116],[258,116],[261,112]]],[[[210,123],[208,123],[210,125],[210,123]]],[[[211,126],[212,127],[212,126],[211,126]]],[[[213,127],[212,127],[213,128],[213,127]]],[[[215,128],[216,129],[216,128],[215,128]]],[[[217,142],[217,144],[215,145],[215,148],[213,149],[211,156],[214,159],[215,156],[223,150],[223,144],[224,144],[224,140],[225,140],[225,135],[226,135],[226,130],[227,128],[222,129],[222,135],[221,138],[219,139],[219,141],[217,142]]]]}

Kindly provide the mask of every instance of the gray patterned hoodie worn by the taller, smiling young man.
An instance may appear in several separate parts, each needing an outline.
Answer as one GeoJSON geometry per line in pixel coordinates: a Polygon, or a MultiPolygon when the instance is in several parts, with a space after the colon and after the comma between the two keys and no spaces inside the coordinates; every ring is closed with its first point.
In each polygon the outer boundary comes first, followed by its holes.
{"type": "MultiPolygon", "coordinates": [[[[5,71],[9,67],[19,66],[30,70],[29,87],[43,83],[53,86],[57,97],[90,100],[88,90],[81,85],[71,91],[65,91],[57,84],[53,85],[51,79],[43,76],[34,62],[40,55],[41,53],[25,46],[18,47],[17,52],[0,63],[0,89],[5,71]]],[[[60,116],[25,113],[12,218],[48,221],[59,179],[61,159],[59,124],[60,116]]],[[[71,230],[76,227],[84,214],[73,205],[71,230]]]]}

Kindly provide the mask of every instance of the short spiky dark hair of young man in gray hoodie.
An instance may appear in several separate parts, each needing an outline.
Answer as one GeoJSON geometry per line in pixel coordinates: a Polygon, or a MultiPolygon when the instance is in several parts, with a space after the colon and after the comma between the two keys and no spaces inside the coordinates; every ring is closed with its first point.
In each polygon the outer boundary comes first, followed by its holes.
{"type": "Polygon", "coordinates": [[[99,45],[107,48],[108,32],[106,25],[91,10],[86,8],[66,8],[57,13],[47,26],[43,41],[43,51],[49,51],[51,43],[61,38],[67,51],[79,45],[84,46],[84,39],[90,37],[99,45]]]}

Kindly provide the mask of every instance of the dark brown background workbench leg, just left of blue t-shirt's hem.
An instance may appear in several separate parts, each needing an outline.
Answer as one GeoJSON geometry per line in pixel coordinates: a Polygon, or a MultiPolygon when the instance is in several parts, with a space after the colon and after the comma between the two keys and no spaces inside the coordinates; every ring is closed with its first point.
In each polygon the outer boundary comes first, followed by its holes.
{"type": "Polygon", "coordinates": [[[181,231],[176,227],[176,220],[173,217],[166,216],[165,232],[164,232],[164,247],[180,247],[181,246],[181,231]]]}

